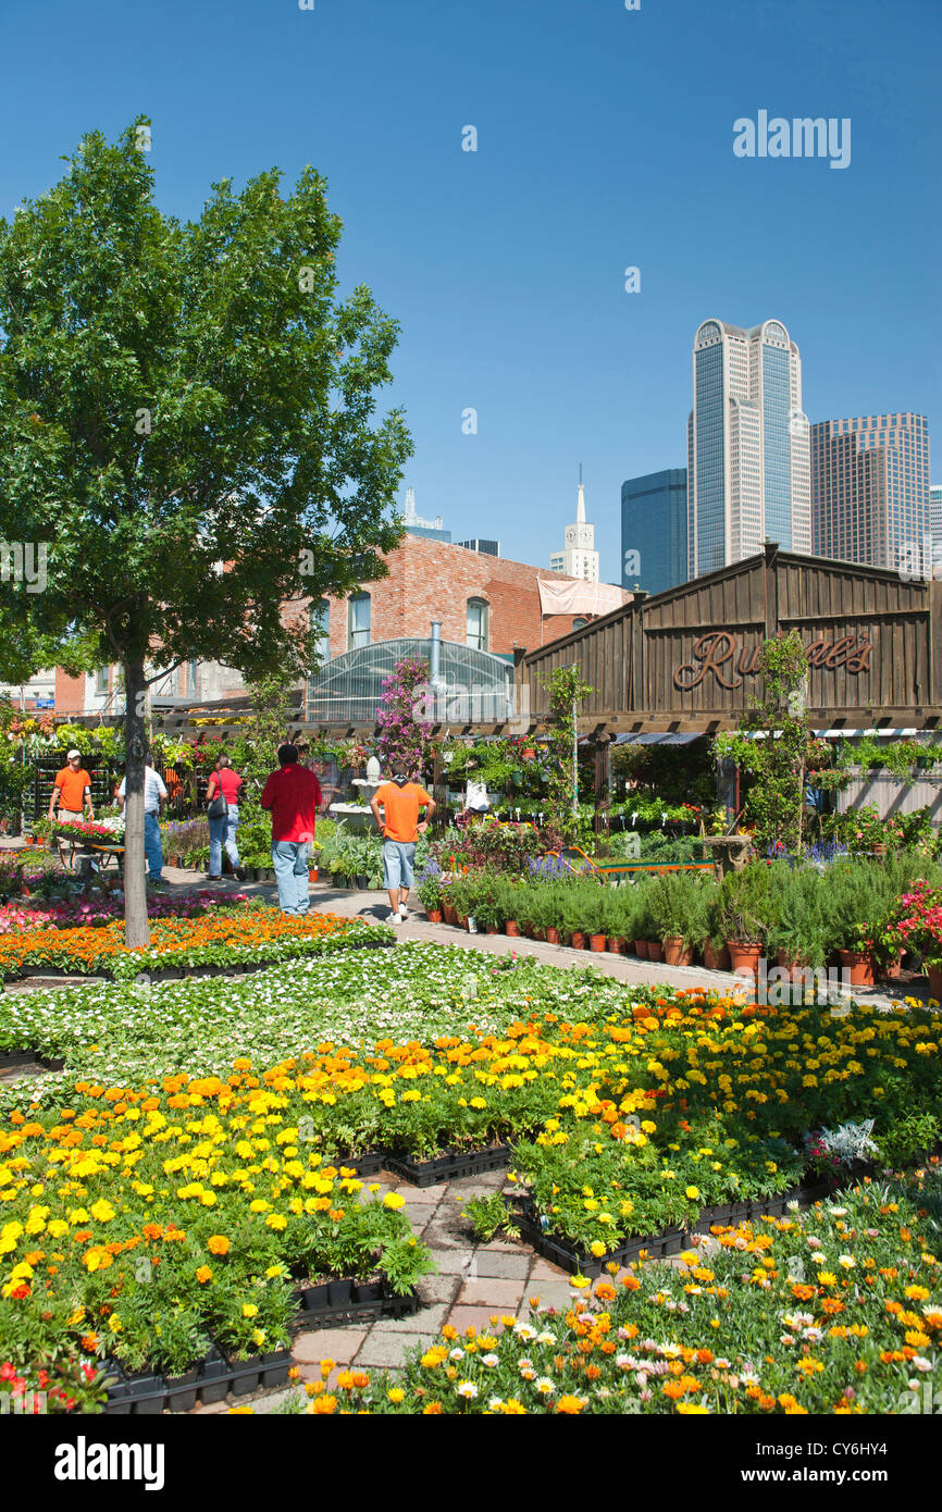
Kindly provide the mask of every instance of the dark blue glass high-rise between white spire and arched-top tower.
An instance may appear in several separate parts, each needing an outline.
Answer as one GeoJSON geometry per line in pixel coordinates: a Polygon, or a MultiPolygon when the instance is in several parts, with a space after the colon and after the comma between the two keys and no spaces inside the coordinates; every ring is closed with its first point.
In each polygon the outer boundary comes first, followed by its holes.
{"type": "Polygon", "coordinates": [[[686,582],[686,467],[621,484],[621,587],[664,593],[686,582]]]}

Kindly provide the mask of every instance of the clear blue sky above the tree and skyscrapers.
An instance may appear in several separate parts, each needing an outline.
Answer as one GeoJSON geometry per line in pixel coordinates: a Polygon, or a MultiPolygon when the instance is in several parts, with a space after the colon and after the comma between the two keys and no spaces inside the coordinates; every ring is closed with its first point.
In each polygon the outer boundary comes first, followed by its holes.
{"type": "Polygon", "coordinates": [[[402,324],[419,513],[549,564],[582,463],[614,581],[706,316],[782,319],[812,420],[916,410],[942,446],[940,42],[939,0],[0,0],[0,213],[138,113],[168,213],[313,163],[343,284],[402,324]],[[762,109],[850,116],[850,166],[736,159],[762,109]]]}

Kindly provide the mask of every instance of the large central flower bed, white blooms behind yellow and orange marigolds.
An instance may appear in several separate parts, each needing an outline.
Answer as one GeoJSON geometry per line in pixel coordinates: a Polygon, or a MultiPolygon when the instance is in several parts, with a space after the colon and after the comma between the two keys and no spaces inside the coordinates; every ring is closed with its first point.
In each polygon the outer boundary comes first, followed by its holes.
{"type": "Polygon", "coordinates": [[[119,983],[3,999],[0,1043],[68,1060],[0,1093],[0,1337],[23,1379],[62,1340],[171,1373],[210,1340],[274,1347],[302,1264],[369,1281],[380,1253],[411,1285],[408,1228],[376,1241],[402,1199],[361,1201],[346,1152],[513,1142],[540,1231],[603,1266],[709,1210],[782,1205],[812,1131],[874,1117],[883,1158],[937,1137],[939,1018],[918,1007],[758,1013],[458,950],[340,950],[224,999],[156,987],[144,1013],[119,983]]]}

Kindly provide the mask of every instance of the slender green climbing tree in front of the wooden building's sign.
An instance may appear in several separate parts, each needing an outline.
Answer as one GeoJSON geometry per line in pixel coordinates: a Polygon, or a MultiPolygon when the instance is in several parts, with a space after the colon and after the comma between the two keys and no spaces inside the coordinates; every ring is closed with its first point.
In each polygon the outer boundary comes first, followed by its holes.
{"type": "Polygon", "coordinates": [[[815,736],[807,718],[807,653],[798,631],[764,643],[759,673],[764,697],[755,700],[739,730],[717,735],[715,751],[751,779],[745,810],[759,842],[800,851],[815,736]]]}

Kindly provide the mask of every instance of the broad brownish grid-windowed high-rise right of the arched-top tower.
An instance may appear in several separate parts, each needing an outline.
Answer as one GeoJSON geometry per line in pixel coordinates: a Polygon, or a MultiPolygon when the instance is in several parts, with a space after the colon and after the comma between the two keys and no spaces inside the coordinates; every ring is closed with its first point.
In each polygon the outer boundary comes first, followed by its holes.
{"type": "Polygon", "coordinates": [[[924,414],[866,414],[810,428],[813,547],[897,570],[933,529],[928,422],[924,414]]]}

